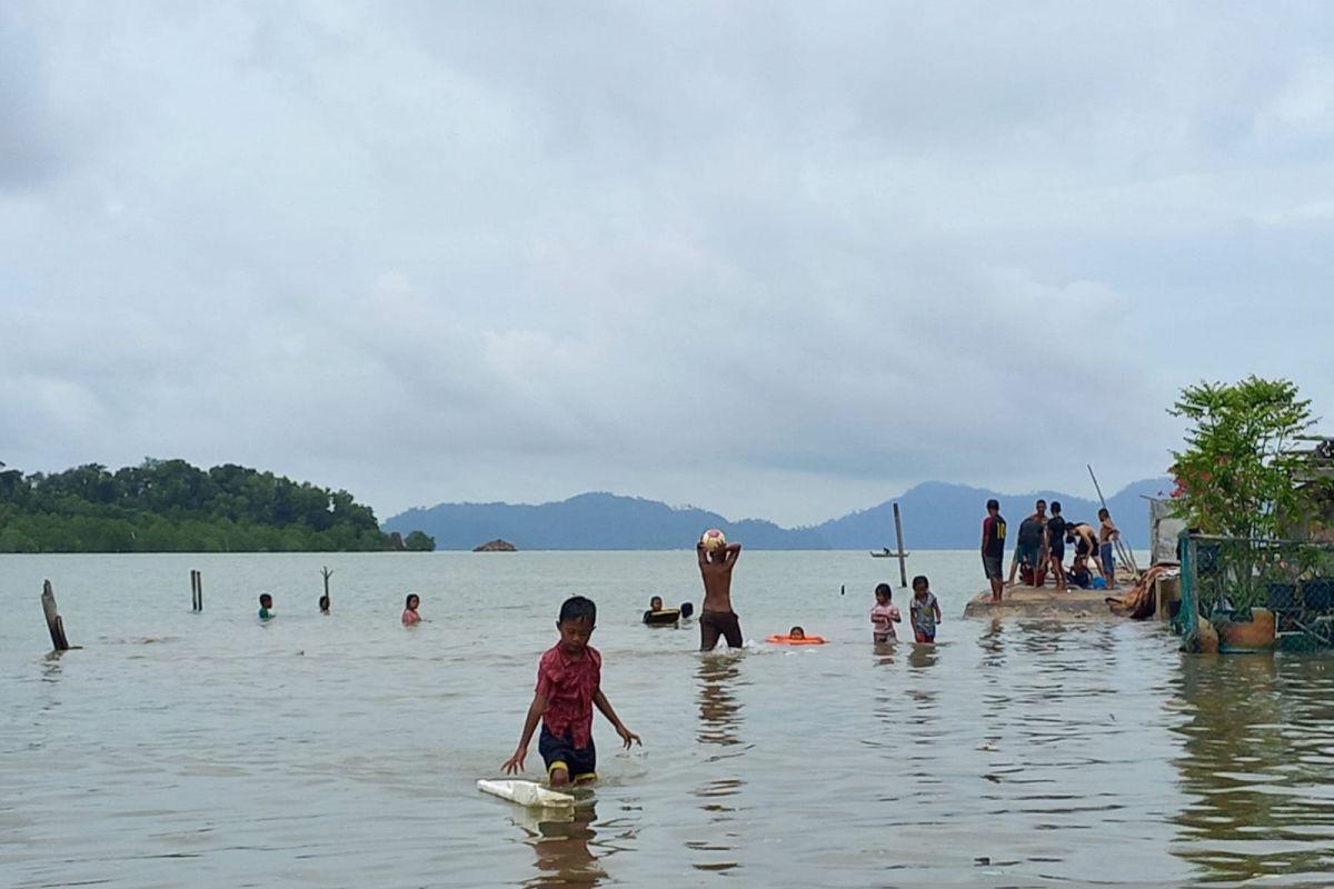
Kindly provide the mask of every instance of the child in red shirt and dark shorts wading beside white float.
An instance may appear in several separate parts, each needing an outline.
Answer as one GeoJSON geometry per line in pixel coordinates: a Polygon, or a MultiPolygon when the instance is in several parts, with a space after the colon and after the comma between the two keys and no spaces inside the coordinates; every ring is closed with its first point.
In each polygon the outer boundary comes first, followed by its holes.
{"type": "Polygon", "coordinates": [[[560,641],[547,649],[538,662],[538,689],[523,721],[523,733],[514,756],[502,766],[514,773],[523,769],[528,742],[542,721],[538,752],[547,764],[551,786],[598,778],[598,750],[592,744],[592,708],[615,726],[626,742],[639,736],[626,728],[611,702],[602,693],[602,654],[588,638],[598,618],[598,606],[583,596],[572,596],[560,605],[556,629],[560,641]]]}

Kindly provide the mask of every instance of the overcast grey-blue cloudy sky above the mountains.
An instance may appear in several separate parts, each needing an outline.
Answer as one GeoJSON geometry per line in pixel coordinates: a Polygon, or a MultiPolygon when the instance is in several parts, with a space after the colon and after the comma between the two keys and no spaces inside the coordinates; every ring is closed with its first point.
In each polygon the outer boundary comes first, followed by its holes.
{"type": "Polygon", "coordinates": [[[0,461],[383,520],[1110,496],[1334,429],[1325,3],[0,5],[0,461]]]}

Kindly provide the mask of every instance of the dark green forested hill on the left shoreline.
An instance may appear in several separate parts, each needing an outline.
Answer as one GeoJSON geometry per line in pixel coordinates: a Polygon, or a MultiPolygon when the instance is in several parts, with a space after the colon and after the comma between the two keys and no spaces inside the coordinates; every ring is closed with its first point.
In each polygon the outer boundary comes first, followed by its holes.
{"type": "MultiPolygon", "coordinates": [[[[414,548],[430,549],[412,536],[414,548]]],[[[346,490],[227,464],[144,460],[24,474],[0,468],[0,553],[378,550],[375,512],[346,490]]]]}

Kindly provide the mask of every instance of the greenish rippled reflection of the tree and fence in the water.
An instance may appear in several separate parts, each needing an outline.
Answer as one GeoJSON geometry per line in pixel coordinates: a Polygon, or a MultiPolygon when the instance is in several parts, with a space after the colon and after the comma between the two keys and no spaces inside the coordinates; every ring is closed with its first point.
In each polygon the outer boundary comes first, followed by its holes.
{"type": "Polygon", "coordinates": [[[1174,853],[1209,880],[1334,868],[1334,661],[1187,657],[1174,853]]]}

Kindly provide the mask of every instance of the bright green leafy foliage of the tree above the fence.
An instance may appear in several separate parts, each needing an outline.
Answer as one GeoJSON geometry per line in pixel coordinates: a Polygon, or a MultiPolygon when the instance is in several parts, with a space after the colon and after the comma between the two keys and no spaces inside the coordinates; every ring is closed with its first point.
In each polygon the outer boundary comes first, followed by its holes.
{"type": "Polygon", "coordinates": [[[1177,512],[1203,533],[1278,537],[1302,510],[1294,439],[1315,423],[1287,380],[1246,377],[1182,389],[1169,409],[1190,428],[1173,452],[1177,512]]]}

